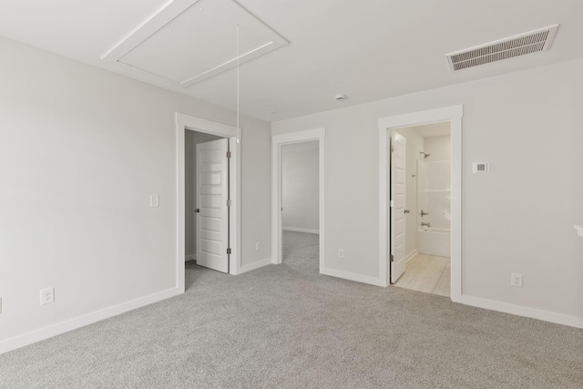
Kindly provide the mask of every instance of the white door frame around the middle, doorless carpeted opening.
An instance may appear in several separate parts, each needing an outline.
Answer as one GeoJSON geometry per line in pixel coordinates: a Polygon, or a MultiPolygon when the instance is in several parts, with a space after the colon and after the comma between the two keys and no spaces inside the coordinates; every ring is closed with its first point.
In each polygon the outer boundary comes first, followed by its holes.
{"type": "Polygon", "coordinates": [[[318,140],[320,272],[324,269],[324,128],[308,129],[271,137],[271,263],[280,264],[281,254],[281,146],[318,140]]]}

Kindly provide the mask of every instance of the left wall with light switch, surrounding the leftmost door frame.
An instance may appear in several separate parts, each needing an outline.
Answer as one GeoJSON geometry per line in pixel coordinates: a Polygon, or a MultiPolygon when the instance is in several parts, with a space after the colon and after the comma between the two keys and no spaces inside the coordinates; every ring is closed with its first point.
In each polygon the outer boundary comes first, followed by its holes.
{"type": "MultiPolygon", "coordinates": [[[[2,352],[176,288],[175,112],[235,115],[4,38],[0,51],[2,352]],[[56,302],[39,306],[50,286],[56,302]]],[[[252,263],[271,253],[271,135],[259,120],[241,127],[241,261],[252,263]]]]}

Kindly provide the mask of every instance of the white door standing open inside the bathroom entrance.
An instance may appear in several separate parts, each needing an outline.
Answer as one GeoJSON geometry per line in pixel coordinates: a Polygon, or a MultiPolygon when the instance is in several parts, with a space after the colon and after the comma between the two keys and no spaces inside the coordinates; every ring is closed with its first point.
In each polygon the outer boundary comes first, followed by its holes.
{"type": "Polygon", "coordinates": [[[391,131],[391,283],[405,268],[405,138],[391,131]]]}

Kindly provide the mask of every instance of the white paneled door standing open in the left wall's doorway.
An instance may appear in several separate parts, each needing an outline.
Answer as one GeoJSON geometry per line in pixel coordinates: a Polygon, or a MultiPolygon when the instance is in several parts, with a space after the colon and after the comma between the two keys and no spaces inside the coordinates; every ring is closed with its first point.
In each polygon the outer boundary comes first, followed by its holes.
{"type": "Polygon", "coordinates": [[[197,264],[229,272],[229,139],[197,145],[197,264]]]}

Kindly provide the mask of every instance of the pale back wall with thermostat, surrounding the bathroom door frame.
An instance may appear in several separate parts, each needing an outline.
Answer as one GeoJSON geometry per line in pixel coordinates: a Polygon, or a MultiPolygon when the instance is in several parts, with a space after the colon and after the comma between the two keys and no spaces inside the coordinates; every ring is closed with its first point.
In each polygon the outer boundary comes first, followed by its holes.
{"type": "Polygon", "coordinates": [[[326,128],[325,266],[379,277],[378,118],[460,103],[464,296],[583,326],[583,60],[272,123],[326,128]],[[472,174],[482,160],[491,172],[472,174]]]}

